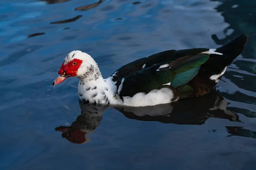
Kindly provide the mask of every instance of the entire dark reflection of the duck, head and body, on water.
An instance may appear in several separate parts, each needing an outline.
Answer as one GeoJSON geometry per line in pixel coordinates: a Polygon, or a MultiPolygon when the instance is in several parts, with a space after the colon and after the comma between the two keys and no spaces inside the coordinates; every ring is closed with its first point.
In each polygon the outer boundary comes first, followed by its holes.
{"type": "Polygon", "coordinates": [[[90,142],[89,134],[93,133],[102,121],[105,110],[109,107],[121,112],[128,119],[140,121],[158,121],[180,125],[202,125],[213,117],[240,122],[239,116],[227,110],[227,101],[216,91],[202,97],[183,99],[172,104],[127,107],[91,105],[79,100],[81,114],[71,126],[56,127],[62,132],[62,137],[76,144],[90,142]]]}

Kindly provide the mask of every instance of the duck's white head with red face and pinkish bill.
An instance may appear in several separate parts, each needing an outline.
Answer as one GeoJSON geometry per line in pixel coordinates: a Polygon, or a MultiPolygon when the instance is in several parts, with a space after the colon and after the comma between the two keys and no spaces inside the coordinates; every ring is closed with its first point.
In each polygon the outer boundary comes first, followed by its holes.
{"type": "Polygon", "coordinates": [[[52,85],[57,85],[68,77],[91,80],[101,76],[98,64],[94,59],[89,54],[79,50],[67,54],[58,74],[59,76],[52,82],[52,85]]]}

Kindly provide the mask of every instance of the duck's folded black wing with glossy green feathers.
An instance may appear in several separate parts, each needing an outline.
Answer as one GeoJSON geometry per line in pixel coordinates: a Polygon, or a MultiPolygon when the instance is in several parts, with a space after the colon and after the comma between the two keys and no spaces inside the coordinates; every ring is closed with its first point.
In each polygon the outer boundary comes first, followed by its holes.
{"type": "MultiPolygon", "coordinates": [[[[193,88],[188,83],[197,74],[202,64],[209,59],[209,54],[173,55],[169,61],[151,65],[150,67],[134,71],[124,77],[119,77],[116,95],[134,96],[134,94],[148,93],[154,89],[170,88],[178,90],[179,94],[193,93],[193,88]],[[181,56],[181,57],[180,57],[181,56]]],[[[179,54],[179,53],[177,53],[179,54]]]]}

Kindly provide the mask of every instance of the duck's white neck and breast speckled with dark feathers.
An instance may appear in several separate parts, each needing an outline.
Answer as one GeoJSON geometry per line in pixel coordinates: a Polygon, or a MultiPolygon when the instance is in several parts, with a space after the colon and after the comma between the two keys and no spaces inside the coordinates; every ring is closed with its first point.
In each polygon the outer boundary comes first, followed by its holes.
{"type": "Polygon", "coordinates": [[[80,79],[78,95],[84,102],[110,104],[108,85],[101,74],[93,79],[80,79]]]}

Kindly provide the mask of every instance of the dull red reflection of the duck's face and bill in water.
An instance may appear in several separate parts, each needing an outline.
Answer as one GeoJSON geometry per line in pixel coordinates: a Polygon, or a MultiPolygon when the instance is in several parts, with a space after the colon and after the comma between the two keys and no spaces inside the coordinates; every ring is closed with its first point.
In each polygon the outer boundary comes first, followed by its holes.
{"type": "Polygon", "coordinates": [[[72,127],[57,127],[55,130],[62,132],[62,137],[66,138],[71,143],[81,144],[86,141],[85,132],[79,129],[73,129],[72,127]]]}

